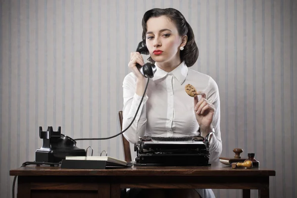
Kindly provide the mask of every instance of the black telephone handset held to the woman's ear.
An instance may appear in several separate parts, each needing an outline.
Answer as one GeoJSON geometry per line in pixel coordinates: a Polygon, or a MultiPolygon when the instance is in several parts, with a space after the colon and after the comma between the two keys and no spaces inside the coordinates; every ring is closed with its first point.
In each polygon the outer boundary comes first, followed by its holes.
{"type": "MultiPolygon", "coordinates": [[[[146,45],[146,41],[142,41],[138,44],[137,52],[141,53],[141,54],[145,54],[148,55],[148,48],[146,45]]],[[[140,64],[136,63],[136,67],[138,68],[138,70],[140,71],[140,73],[142,73],[142,75],[144,75],[146,78],[152,78],[153,74],[156,72],[156,66],[152,63],[147,62],[146,64],[144,64],[143,66],[141,66],[140,64]]]]}

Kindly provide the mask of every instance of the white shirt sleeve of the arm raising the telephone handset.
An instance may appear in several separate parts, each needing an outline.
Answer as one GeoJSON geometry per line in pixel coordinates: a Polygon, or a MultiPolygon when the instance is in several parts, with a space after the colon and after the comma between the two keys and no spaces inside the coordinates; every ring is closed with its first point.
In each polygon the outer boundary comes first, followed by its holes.
{"type": "MultiPolygon", "coordinates": [[[[136,80],[132,73],[128,74],[123,81],[123,130],[125,130],[133,121],[142,96],[135,93],[136,80]]],[[[145,135],[147,125],[146,102],[148,96],[146,95],[140,105],[137,116],[131,126],[123,133],[124,137],[132,144],[138,141],[139,137],[145,135]]]]}

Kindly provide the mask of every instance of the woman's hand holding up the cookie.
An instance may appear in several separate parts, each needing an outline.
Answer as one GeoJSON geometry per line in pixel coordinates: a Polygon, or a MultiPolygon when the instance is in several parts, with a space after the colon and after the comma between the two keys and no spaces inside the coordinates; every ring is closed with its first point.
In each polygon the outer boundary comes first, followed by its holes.
{"type": "Polygon", "coordinates": [[[211,132],[211,123],[215,107],[206,99],[205,93],[199,92],[199,95],[201,95],[200,100],[198,100],[198,96],[194,97],[195,116],[201,132],[206,132],[208,134],[211,132]]]}

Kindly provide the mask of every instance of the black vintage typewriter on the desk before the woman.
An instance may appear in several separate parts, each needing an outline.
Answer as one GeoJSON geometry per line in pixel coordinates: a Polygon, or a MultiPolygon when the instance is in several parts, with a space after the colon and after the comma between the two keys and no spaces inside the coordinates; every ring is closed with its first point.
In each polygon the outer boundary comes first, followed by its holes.
{"type": "Polygon", "coordinates": [[[140,137],[134,150],[134,165],[143,166],[208,166],[209,135],[187,137],[140,137]]]}

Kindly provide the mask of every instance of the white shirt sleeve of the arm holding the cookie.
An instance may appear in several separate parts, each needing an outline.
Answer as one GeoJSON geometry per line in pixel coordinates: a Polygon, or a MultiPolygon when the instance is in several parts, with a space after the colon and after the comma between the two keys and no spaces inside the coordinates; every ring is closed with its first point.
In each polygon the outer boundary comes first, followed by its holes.
{"type": "Polygon", "coordinates": [[[220,130],[220,97],[216,82],[210,77],[208,82],[207,100],[215,107],[212,126],[214,134],[209,142],[209,161],[218,161],[222,153],[222,139],[220,130]]]}

